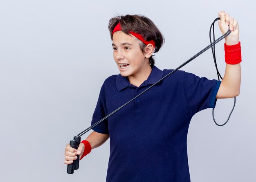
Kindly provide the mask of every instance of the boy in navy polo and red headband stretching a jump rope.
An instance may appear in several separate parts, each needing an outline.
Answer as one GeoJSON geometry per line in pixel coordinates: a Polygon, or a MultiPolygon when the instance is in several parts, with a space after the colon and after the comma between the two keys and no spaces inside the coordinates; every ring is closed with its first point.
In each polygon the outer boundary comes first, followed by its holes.
{"type": "MultiPolygon", "coordinates": [[[[186,137],[192,116],[215,107],[216,99],[240,92],[238,23],[225,11],[218,13],[225,38],[223,80],[208,80],[177,71],[93,128],[79,148],[67,144],[65,164],[80,160],[110,138],[107,182],[190,182],[186,137]]],[[[154,66],[153,52],[164,43],[162,33],[148,18],[126,15],[109,22],[113,55],[119,75],[108,77],[100,91],[92,124],[143,92],[171,70],[154,66]]]]}

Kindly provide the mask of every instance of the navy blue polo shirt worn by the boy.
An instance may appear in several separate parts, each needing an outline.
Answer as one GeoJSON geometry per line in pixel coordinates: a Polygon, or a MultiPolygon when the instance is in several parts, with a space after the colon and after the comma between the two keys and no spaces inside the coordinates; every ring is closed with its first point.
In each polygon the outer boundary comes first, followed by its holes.
{"type": "MultiPolygon", "coordinates": [[[[172,70],[153,66],[141,86],[112,75],[101,88],[92,124],[172,70]]],[[[192,116],[216,104],[220,81],[178,70],[93,128],[110,135],[107,182],[190,182],[187,133],[192,116]]]]}

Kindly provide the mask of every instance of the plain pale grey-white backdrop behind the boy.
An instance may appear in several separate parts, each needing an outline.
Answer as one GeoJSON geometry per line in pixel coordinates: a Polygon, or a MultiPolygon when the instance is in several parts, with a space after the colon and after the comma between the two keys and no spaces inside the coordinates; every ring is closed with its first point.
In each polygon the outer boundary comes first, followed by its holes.
{"type": "MultiPolygon", "coordinates": [[[[105,181],[109,140],[72,175],[63,161],[65,145],[90,126],[103,81],[119,73],[109,19],[132,13],[153,20],[166,39],[156,66],[173,69],[209,44],[209,27],[221,10],[240,25],[241,92],[224,127],[213,123],[210,109],[192,118],[187,142],[191,182],[255,182],[256,15],[255,2],[249,0],[1,0],[0,180],[105,181]]],[[[216,45],[222,75],[223,44],[216,45]]],[[[217,78],[210,50],[182,70],[217,78]]],[[[232,105],[233,99],[218,99],[219,123],[232,105]]]]}

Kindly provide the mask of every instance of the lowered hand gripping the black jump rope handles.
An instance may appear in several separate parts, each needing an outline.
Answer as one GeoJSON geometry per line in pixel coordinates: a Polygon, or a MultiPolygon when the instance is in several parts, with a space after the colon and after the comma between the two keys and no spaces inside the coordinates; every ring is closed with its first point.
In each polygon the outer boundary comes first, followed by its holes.
{"type": "Polygon", "coordinates": [[[68,143],[66,148],[65,148],[65,161],[64,164],[72,164],[74,162],[74,160],[77,159],[76,155],[79,155],[79,159],[81,158],[81,156],[83,155],[83,151],[84,151],[84,144],[80,143],[79,147],[76,149],[70,147],[70,144],[68,143]]]}

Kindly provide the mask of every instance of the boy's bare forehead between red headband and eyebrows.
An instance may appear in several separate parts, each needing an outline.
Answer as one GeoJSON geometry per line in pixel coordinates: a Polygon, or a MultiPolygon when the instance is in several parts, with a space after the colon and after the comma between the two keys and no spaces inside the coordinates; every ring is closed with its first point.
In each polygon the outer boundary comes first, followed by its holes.
{"type": "Polygon", "coordinates": [[[126,33],[122,31],[117,31],[113,34],[113,44],[119,45],[123,44],[124,42],[130,43],[130,44],[139,44],[139,39],[137,39],[133,35],[127,35],[126,33]]]}

